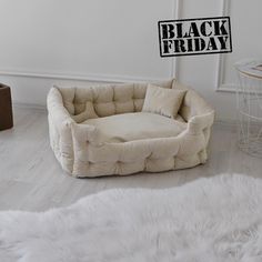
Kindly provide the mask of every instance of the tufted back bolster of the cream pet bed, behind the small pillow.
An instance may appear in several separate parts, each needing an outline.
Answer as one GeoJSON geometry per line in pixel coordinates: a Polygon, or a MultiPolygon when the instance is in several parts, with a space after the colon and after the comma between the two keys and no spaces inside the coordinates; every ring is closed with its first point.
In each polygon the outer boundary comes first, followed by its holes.
{"type": "MultiPolygon", "coordinates": [[[[172,82],[173,80],[169,80],[155,84],[170,89],[172,82]]],[[[83,113],[88,103],[93,105],[94,112],[101,118],[119,113],[140,112],[147,87],[148,83],[128,83],[57,89],[62,95],[64,108],[71,115],[83,113]]]]}

